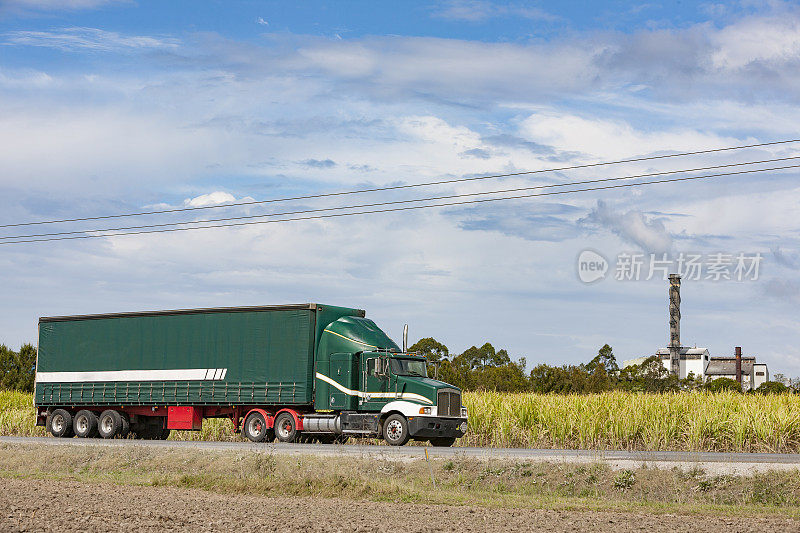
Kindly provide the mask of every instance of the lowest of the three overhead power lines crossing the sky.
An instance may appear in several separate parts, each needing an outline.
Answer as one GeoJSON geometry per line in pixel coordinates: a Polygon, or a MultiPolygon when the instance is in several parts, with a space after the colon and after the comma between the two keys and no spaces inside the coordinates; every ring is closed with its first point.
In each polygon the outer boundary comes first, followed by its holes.
{"type": "Polygon", "coordinates": [[[573,194],[578,192],[588,192],[588,191],[599,191],[599,190],[608,190],[608,189],[620,189],[624,187],[640,187],[643,185],[655,185],[659,183],[673,183],[673,182],[680,182],[680,181],[691,181],[691,180],[700,180],[700,179],[709,179],[718,176],[727,176],[733,174],[747,174],[753,172],[766,172],[770,170],[781,170],[781,169],[788,169],[788,168],[798,168],[800,165],[789,165],[784,167],[776,167],[772,169],[758,169],[758,170],[742,170],[737,172],[728,172],[723,174],[710,174],[704,176],[686,176],[683,178],[669,178],[663,180],[653,180],[653,181],[645,181],[640,183],[622,183],[617,185],[604,185],[602,187],[587,187],[584,189],[572,189],[568,191],[550,191],[550,192],[541,192],[541,193],[533,193],[533,194],[521,194],[516,196],[504,196],[501,198],[480,198],[477,200],[464,200],[460,202],[442,202],[438,204],[431,204],[431,205],[415,205],[415,206],[405,206],[405,207],[392,207],[387,209],[373,209],[369,211],[359,211],[356,213],[329,213],[325,215],[312,215],[306,217],[295,217],[295,218],[285,218],[285,219],[277,219],[277,220],[259,220],[259,221],[250,221],[250,222],[234,222],[230,224],[215,224],[210,226],[196,226],[196,227],[189,227],[189,228],[171,228],[171,229],[160,229],[160,230],[149,230],[149,231],[131,231],[131,232],[122,232],[122,233],[109,233],[109,234],[101,234],[101,235],[77,235],[77,236],[67,236],[67,237],[52,237],[52,238],[45,238],[45,239],[29,239],[29,240],[18,240],[18,241],[6,241],[0,242],[0,246],[7,245],[7,244],[23,244],[23,243],[32,243],[32,242],[51,242],[51,241],[65,241],[65,240],[76,240],[76,239],[93,239],[93,238],[100,238],[100,237],[118,237],[123,235],[145,235],[150,233],[171,233],[176,231],[192,231],[192,230],[202,230],[202,229],[213,229],[213,228],[229,228],[229,227],[239,227],[239,226],[253,226],[259,224],[272,224],[278,222],[294,222],[294,221],[301,221],[301,220],[314,220],[314,219],[325,219],[325,218],[339,218],[339,217],[347,217],[347,216],[354,216],[354,215],[369,215],[369,214],[376,214],[376,213],[389,213],[389,212],[397,212],[397,211],[411,211],[411,210],[420,210],[420,209],[430,209],[436,207],[449,207],[454,205],[467,205],[467,204],[478,204],[478,203],[487,203],[487,202],[498,202],[503,200],[517,200],[521,198],[533,198],[539,196],[554,196],[559,194],[573,194]]]}

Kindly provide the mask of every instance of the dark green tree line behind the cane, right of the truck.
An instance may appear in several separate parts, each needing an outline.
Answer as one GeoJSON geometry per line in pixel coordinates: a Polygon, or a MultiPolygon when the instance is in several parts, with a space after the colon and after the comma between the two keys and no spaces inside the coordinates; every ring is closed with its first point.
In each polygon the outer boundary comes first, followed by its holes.
{"type": "MultiPolygon", "coordinates": [[[[668,392],[693,390],[741,390],[736,380],[719,378],[703,382],[690,374],[678,379],[653,355],[641,364],[620,368],[614,351],[603,345],[591,360],[578,365],[551,366],[539,364],[525,372],[525,358],[516,361],[504,349],[496,350],[491,343],[472,346],[463,353],[451,356],[447,346],[432,337],[420,339],[409,351],[428,359],[428,374],[464,390],[501,392],[536,392],[541,394],[588,394],[609,390],[638,392],[668,392]]],[[[777,393],[800,391],[800,386],[786,387],[770,381],[758,392],[777,393]]]]}

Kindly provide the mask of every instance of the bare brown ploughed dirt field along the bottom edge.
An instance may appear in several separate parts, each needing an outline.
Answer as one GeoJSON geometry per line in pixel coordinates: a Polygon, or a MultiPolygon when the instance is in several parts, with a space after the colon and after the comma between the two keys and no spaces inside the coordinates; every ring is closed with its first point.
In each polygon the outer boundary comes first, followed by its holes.
{"type": "Polygon", "coordinates": [[[3,479],[0,531],[800,531],[790,519],[493,509],[3,479]]]}

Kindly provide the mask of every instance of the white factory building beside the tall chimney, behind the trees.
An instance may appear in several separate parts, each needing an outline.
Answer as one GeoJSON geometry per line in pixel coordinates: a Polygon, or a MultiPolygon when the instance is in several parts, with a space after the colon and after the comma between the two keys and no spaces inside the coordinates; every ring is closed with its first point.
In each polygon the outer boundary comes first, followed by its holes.
{"type": "MultiPolygon", "coordinates": [[[[661,364],[669,371],[669,348],[661,348],[655,355],[661,359],[661,364]]],[[[647,357],[638,357],[622,362],[622,366],[639,365],[647,357]]],[[[703,381],[719,378],[736,380],[736,357],[711,357],[708,348],[690,348],[683,346],[680,349],[680,370],[678,377],[685,379],[689,374],[702,378],[703,381]]],[[[769,370],[765,363],[757,363],[754,356],[742,356],[742,390],[757,389],[762,383],[769,381],[769,370]]]]}

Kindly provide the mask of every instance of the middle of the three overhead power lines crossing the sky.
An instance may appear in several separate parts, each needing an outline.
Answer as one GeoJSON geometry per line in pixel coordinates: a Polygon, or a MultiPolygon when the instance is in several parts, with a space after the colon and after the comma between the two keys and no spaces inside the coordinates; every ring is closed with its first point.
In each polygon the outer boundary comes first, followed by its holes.
{"type": "MultiPolygon", "coordinates": [[[[557,183],[557,184],[549,184],[549,185],[537,185],[531,187],[518,187],[514,189],[501,189],[501,190],[494,190],[494,191],[483,191],[483,192],[474,192],[474,193],[461,193],[461,194],[450,194],[450,195],[443,195],[443,196],[433,196],[428,198],[416,198],[411,200],[395,200],[389,202],[374,202],[369,204],[359,204],[359,205],[349,205],[349,206],[340,206],[340,207],[325,207],[325,208],[317,208],[317,209],[303,209],[298,211],[285,211],[281,213],[267,213],[261,215],[246,215],[246,216],[238,216],[238,217],[225,217],[225,218],[214,218],[214,219],[205,219],[205,220],[189,220],[184,222],[167,222],[162,224],[145,224],[140,226],[123,226],[117,228],[97,228],[97,229],[86,229],[86,230],[74,230],[74,231],[61,231],[61,232],[52,232],[52,233],[34,233],[29,235],[9,235],[9,236],[0,236],[0,241],[8,240],[8,239],[27,239],[33,237],[52,237],[58,235],[76,235],[79,233],[94,233],[94,232],[110,232],[110,231],[127,231],[127,230],[134,230],[134,229],[149,229],[149,228],[164,228],[169,226],[181,226],[186,224],[207,224],[211,222],[228,222],[232,220],[249,220],[255,218],[266,218],[266,217],[277,217],[277,216],[288,216],[288,215],[299,215],[299,214],[306,214],[306,213],[320,213],[325,211],[341,211],[345,209],[361,209],[365,207],[379,207],[384,205],[396,205],[396,204],[407,204],[413,202],[427,202],[433,200],[445,200],[450,198],[463,198],[467,196],[480,196],[485,194],[504,194],[509,192],[519,192],[519,191],[527,191],[527,190],[534,190],[534,189],[547,189],[553,187],[569,187],[573,185],[585,185],[587,183],[602,183],[602,182],[610,182],[610,181],[620,181],[620,180],[629,180],[629,179],[637,179],[637,178],[644,178],[644,177],[653,177],[653,176],[663,176],[669,174],[683,174],[686,172],[698,172],[701,170],[712,170],[717,168],[730,168],[730,167],[740,167],[746,165],[756,165],[762,163],[773,163],[776,161],[787,161],[787,160],[796,160],[800,159],[800,156],[792,156],[792,157],[779,157],[774,159],[764,159],[760,161],[748,161],[744,163],[729,163],[726,165],[713,165],[708,167],[698,167],[698,168],[690,168],[684,170],[672,170],[672,171],[665,171],[665,172],[651,172],[647,174],[634,174],[630,176],[619,176],[613,178],[598,178],[593,180],[583,180],[583,181],[573,181],[568,183],[557,183]]],[[[782,168],[791,168],[791,167],[777,167],[777,169],[782,168]]],[[[775,169],[760,169],[760,170],[775,170],[775,169]]],[[[760,171],[759,169],[754,171],[760,171]]],[[[718,175],[727,175],[727,174],[718,174],[718,175]]]]}

